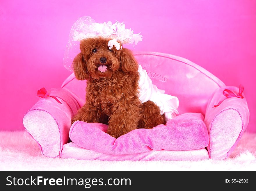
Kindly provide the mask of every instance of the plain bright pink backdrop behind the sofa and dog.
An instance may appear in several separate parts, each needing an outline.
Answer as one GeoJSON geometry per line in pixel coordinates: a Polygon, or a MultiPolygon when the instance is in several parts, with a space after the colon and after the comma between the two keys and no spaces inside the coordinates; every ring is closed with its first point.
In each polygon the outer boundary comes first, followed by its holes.
{"type": "Polygon", "coordinates": [[[249,132],[256,132],[256,1],[10,1],[0,0],[0,130],[23,129],[37,90],[60,87],[73,23],[118,20],[143,41],[134,51],[170,53],[191,60],[226,85],[245,87],[249,132]]]}

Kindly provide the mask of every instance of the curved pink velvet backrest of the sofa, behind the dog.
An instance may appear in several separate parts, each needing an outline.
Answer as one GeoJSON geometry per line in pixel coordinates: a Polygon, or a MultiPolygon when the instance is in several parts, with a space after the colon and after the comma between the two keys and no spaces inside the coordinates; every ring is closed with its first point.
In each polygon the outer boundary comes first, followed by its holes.
{"type": "MultiPolygon", "coordinates": [[[[138,63],[147,70],[152,82],[167,94],[179,98],[179,114],[202,113],[217,88],[225,86],[216,76],[195,63],[166,53],[135,52],[138,63]]],[[[85,101],[86,81],[78,81],[71,74],[62,85],[85,101]]]]}

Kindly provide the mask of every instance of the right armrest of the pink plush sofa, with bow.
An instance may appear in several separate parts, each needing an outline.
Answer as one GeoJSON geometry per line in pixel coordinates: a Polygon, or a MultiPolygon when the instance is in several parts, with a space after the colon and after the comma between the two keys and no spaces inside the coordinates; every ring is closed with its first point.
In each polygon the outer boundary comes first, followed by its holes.
{"type": "Polygon", "coordinates": [[[205,124],[209,133],[207,146],[209,157],[218,160],[230,156],[246,130],[250,115],[244,94],[242,94],[243,99],[238,97],[225,99],[223,95],[225,89],[231,90],[236,95],[239,92],[239,88],[234,86],[217,89],[210,98],[205,113],[205,124]],[[222,100],[224,101],[219,106],[214,107],[222,100]]]}

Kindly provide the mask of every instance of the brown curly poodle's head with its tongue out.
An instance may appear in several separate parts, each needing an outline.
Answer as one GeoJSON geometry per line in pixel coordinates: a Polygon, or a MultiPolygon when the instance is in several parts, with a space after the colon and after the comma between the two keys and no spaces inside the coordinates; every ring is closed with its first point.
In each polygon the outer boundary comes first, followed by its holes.
{"type": "Polygon", "coordinates": [[[121,69],[124,73],[137,72],[138,63],[129,49],[108,47],[111,39],[89,38],[80,42],[81,52],[74,58],[73,70],[77,79],[110,78],[121,69]]]}

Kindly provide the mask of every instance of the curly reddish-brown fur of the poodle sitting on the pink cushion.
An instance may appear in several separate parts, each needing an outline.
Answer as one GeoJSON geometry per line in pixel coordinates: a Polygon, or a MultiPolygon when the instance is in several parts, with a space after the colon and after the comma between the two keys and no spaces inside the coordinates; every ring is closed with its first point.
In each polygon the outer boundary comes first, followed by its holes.
{"type": "Polygon", "coordinates": [[[109,40],[90,38],[80,42],[81,52],[74,58],[73,70],[78,80],[87,80],[86,103],[72,123],[109,124],[107,133],[115,138],[136,128],[165,123],[155,103],[141,103],[138,98],[138,63],[132,52],[115,47],[110,50],[109,40]],[[98,70],[100,58],[106,58],[106,72],[98,70]]]}

